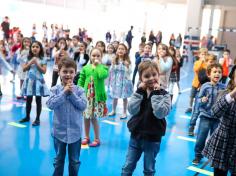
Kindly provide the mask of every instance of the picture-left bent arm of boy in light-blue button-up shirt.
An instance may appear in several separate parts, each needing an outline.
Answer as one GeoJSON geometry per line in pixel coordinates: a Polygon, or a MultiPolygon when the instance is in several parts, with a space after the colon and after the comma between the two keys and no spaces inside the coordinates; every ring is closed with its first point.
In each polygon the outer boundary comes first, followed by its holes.
{"type": "MultiPolygon", "coordinates": [[[[49,109],[56,109],[66,101],[67,94],[64,90],[57,91],[57,87],[51,89],[50,97],[48,98],[46,105],[49,109]]],[[[63,108],[63,107],[61,107],[63,108]]]]}

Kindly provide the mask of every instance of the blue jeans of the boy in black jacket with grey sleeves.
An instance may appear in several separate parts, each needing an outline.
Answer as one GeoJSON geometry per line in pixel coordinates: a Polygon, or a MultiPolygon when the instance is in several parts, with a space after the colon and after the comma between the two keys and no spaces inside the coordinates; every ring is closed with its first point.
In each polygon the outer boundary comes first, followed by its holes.
{"type": "Polygon", "coordinates": [[[160,142],[150,142],[143,139],[130,138],[128,154],[125,165],[122,168],[122,176],[131,176],[136,164],[144,152],[144,175],[155,174],[155,158],[160,150],[160,142]]]}

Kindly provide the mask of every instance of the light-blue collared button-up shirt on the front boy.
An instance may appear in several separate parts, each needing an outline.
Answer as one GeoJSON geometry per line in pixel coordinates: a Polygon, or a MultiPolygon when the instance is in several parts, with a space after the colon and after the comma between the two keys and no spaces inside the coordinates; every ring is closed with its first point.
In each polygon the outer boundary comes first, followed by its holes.
{"type": "Polygon", "coordinates": [[[67,144],[78,141],[82,134],[82,113],[87,106],[84,90],[74,85],[72,93],[65,93],[62,85],[56,85],[46,104],[54,111],[52,136],[67,144]]]}

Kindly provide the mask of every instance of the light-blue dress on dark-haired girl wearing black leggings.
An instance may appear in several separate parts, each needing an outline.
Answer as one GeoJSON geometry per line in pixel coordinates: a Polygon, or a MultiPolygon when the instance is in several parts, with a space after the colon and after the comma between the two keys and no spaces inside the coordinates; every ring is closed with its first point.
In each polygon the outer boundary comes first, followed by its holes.
{"type": "MultiPolygon", "coordinates": [[[[25,58],[27,59],[27,58],[25,58]]],[[[27,61],[26,61],[27,62],[27,61]]],[[[39,59],[38,62],[41,65],[46,65],[45,59],[39,59]]],[[[40,72],[35,64],[30,66],[30,69],[26,72],[22,89],[22,96],[49,96],[50,92],[45,84],[43,73],[40,72]]]]}

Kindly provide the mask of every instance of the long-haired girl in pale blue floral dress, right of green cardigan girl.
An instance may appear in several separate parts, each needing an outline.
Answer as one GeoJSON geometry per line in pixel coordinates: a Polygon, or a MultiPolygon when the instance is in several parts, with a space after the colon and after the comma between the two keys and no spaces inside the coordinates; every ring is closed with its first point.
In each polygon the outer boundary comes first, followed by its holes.
{"type": "Polygon", "coordinates": [[[127,118],[127,105],[128,98],[133,93],[133,84],[131,81],[131,61],[128,55],[128,49],[124,44],[119,44],[116,57],[112,62],[110,68],[110,86],[111,86],[111,97],[113,98],[112,111],[109,116],[116,114],[116,106],[118,98],[123,99],[123,114],[120,116],[121,119],[127,118]]]}

